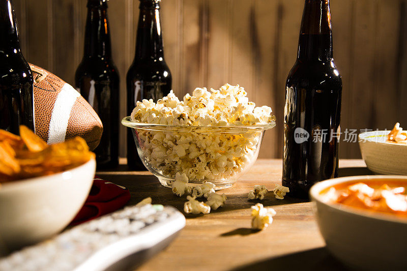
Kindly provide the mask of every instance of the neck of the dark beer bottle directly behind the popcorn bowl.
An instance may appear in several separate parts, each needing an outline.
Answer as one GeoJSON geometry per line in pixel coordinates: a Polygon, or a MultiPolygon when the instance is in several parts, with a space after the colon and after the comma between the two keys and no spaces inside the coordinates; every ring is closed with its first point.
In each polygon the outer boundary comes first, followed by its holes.
{"type": "Polygon", "coordinates": [[[164,49],[162,44],[159,1],[141,0],[135,59],[146,60],[160,58],[164,58],[164,49]]]}

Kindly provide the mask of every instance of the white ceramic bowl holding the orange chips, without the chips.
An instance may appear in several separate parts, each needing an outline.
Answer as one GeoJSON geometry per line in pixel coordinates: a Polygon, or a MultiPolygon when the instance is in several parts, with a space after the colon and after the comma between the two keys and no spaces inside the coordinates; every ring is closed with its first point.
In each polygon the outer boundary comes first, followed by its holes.
{"type": "Polygon", "coordinates": [[[0,255],[34,244],[64,229],[93,184],[96,162],[0,187],[0,255]]]}

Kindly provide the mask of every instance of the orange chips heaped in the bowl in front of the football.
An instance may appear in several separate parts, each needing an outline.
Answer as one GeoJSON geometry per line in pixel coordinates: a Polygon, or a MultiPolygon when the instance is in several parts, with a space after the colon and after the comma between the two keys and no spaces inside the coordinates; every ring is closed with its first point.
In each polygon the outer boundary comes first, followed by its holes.
{"type": "Polygon", "coordinates": [[[95,158],[80,137],[47,145],[25,126],[20,135],[0,130],[0,183],[62,172],[95,158]]]}

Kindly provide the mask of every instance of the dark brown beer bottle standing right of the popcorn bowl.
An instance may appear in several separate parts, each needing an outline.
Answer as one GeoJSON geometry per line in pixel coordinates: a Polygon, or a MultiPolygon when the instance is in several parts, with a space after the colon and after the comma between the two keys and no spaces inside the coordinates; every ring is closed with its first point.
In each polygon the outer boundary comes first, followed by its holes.
{"type": "Polygon", "coordinates": [[[337,177],[342,79],[334,64],[329,0],[306,0],[284,108],[283,186],[307,197],[337,177]]]}

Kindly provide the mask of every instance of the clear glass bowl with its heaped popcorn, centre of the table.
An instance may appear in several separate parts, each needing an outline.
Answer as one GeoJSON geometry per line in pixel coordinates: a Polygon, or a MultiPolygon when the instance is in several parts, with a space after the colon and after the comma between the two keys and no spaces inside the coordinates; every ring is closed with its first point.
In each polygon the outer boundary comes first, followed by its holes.
{"type": "Polygon", "coordinates": [[[182,175],[189,186],[206,181],[224,189],[253,165],[264,132],[276,125],[271,108],[256,107],[246,95],[243,87],[229,84],[196,88],[182,101],[171,91],[157,103],[137,102],[122,124],[132,130],[141,161],[163,186],[182,175]]]}

